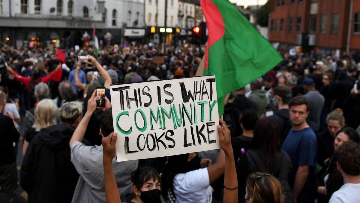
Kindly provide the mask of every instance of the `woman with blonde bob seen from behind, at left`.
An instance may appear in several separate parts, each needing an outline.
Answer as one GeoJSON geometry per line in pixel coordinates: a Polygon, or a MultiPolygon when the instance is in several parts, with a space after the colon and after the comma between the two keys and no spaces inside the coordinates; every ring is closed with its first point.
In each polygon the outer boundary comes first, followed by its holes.
{"type": "Polygon", "coordinates": [[[35,122],[31,129],[25,133],[25,140],[23,144],[22,154],[25,156],[27,147],[31,142],[32,138],[35,137],[41,129],[48,128],[51,125],[56,124],[56,114],[58,108],[51,99],[43,99],[37,103],[35,108],[35,122]]]}

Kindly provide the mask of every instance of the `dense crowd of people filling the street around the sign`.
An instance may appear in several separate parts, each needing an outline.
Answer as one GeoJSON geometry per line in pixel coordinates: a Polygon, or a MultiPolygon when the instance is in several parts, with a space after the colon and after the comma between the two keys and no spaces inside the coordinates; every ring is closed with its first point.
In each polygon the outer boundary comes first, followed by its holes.
{"type": "Polygon", "coordinates": [[[360,202],[357,53],[282,52],[278,66],[229,95],[220,150],[118,163],[110,85],[194,76],[204,49],[130,50],[70,48],[61,62],[55,50],[1,48],[0,202],[360,202]]]}

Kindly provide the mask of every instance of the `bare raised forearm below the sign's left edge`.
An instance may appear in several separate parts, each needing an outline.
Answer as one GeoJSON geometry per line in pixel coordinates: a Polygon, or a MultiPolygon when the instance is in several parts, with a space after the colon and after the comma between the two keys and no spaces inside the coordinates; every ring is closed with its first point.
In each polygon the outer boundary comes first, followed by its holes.
{"type": "Polygon", "coordinates": [[[105,197],[107,203],[121,203],[119,190],[112,168],[111,160],[103,160],[104,179],[105,179],[105,197]]]}

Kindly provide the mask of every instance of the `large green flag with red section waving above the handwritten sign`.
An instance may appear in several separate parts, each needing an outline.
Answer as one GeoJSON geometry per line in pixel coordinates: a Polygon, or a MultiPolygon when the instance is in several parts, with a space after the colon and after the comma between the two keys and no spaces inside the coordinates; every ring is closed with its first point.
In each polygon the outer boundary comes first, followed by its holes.
{"type": "Polygon", "coordinates": [[[216,76],[219,116],[226,94],[244,87],[283,60],[228,0],[201,0],[208,42],[204,75],[216,76]]]}

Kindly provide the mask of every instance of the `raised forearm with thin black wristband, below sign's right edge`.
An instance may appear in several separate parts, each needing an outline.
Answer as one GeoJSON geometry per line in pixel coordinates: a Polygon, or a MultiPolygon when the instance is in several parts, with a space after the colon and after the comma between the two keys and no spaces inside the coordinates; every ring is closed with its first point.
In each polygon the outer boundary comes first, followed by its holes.
{"type": "MultiPolygon", "coordinates": [[[[230,189],[238,187],[238,178],[235,169],[234,152],[225,153],[224,186],[230,189]]],[[[238,188],[229,190],[224,188],[224,203],[238,202],[238,188]]]]}

